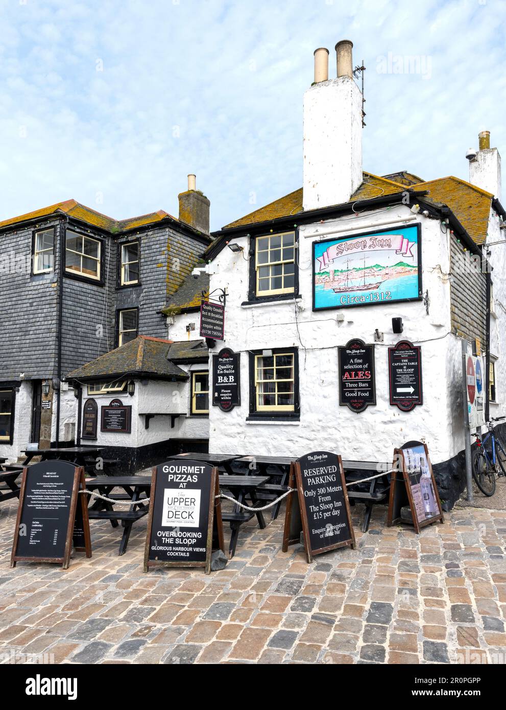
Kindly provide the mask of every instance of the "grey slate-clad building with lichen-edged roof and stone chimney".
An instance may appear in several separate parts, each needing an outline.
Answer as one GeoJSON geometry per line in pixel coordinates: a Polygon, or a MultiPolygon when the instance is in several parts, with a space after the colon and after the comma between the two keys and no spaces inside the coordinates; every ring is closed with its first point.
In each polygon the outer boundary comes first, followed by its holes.
{"type": "Polygon", "coordinates": [[[161,311],[211,241],[194,176],[179,199],[181,219],[118,221],[67,200],[0,222],[0,456],[75,441],[68,373],[139,335],[166,337],[161,311]]]}

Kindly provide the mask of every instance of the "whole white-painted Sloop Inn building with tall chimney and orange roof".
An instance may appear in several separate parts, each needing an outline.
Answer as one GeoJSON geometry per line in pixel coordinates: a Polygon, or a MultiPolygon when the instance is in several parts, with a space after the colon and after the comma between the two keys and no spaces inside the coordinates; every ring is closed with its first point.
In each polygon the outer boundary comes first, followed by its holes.
{"type": "MultiPolygon", "coordinates": [[[[366,172],[351,48],[336,45],[331,79],[328,51],[315,52],[302,189],[231,222],[204,254],[211,299],[226,293],[209,372],[222,346],[240,354],[239,405],[213,405],[209,383],[209,451],[392,461],[422,440],[447,508],[466,481],[463,342],[483,356],[484,415],[506,413],[500,155],[483,131],[469,182],[366,172]],[[416,382],[402,366],[391,381],[400,342],[414,346],[416,382]]],[[[188,320],[173,319],[170,339],[188,336],[188,320]]]]}

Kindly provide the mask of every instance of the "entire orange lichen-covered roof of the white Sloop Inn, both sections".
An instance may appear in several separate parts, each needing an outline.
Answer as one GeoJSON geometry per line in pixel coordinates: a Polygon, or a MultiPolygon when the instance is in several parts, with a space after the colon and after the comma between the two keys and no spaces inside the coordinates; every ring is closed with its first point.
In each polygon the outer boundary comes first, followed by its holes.
{"type": "MultiPolygon", "coordinates": [[[[383,195],[395,195],[402,192],[402,190],[406,190],[407,187],[412,187],[417,191],[427,190],[428,197],[431,200],[446,204],[458,221],[461,222],[469,236],[475,241],[475,244],[483,244],[487,236],[488,217],[493,195],[490,192],[481,190],[480,187],[471,185],[466,180],[455,178],[453,175],[423,182],[417,175],[408,173],[406,170],[386,175],[383,178],[379,175],[373,175],[373,173],[364,172],[363,182],[358,190],[351,195],[348,204],[358,200],[382,197],[383,195]],[[390,178],[397,178],[399,182],[390,178]]],[[[223,229],[258,224],[280,217],[296,217],[297,215],[300,216],[302,212],[301,187],[300,190],[290,192],[285,197],[281,197],[280,200],[270,202],[265,207],[255,209],[254,212],[246,214],[241,219],[236,219],[235,222],[226,224],[223,229]]],[[[208,251],[210,249],[213,249],[212,244],[209,246],[208,251]]]]}

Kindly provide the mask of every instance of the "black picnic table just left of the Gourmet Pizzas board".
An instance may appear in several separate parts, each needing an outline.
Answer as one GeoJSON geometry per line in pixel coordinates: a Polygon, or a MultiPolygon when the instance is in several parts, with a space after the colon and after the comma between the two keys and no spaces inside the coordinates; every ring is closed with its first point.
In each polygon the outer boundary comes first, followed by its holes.
{"type": "Polygon", "coordinates": [[[132,505],[127,508],[114,508],[113,503],[101,501],[100,498],[92,498],[89,501],[88,515],[90,520],[110,520],[113,528],[117,528],[121,520],[123,535],[119,543],[118,555],[124,555],[128,545],[128,537],[133,523],[147,515],[149,506],[143,504],[144,498],[148,498],[151,488],[151,476],[97,476],[93,479],[86,479],[86,486],[91,491],[98,488],[99,493],[115,501],[131,501],[132,505]],[[123,488],[124,493],[112,493],[114,488],[123,488]]]}

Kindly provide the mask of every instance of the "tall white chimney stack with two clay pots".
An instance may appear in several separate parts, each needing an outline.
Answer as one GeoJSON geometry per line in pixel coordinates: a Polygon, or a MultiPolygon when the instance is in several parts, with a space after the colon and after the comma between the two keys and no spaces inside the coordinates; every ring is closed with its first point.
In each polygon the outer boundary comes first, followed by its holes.
{"type": "Polygon", "coordinates": [[[362,94],[353,81],[349,40],[336,44],[338,76],[328,80],[328,51],[314,53],[314,84],[304,93],[304,209],[348,202],[362,182],[362,94]]]}

